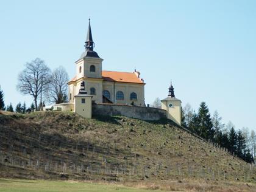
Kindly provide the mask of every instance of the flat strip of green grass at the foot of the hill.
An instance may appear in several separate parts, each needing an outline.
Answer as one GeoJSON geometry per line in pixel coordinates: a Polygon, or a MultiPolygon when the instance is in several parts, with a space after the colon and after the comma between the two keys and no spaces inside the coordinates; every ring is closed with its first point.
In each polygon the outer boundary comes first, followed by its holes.
{"type": "MultiPolygon", "coordinates": [[[[99,184],[89,182],[70,181],[49,181],[49,180],[20,180],[20,179],[0,179],[1,192],[149,192],[136,188],[123,187],[121,185],[99,184]]],[[[155,190],[160,191],[160,190],[155,190]]],[[[162,191],[162,190],[161,190],[162,191]]],[[[162,191],[163,192],[163,191],[162,191]]]]}

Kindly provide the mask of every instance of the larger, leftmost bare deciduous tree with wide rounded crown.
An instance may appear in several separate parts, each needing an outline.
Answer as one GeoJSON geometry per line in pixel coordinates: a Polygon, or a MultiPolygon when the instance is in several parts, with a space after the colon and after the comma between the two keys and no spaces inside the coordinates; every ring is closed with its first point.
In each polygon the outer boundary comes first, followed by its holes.
{"type": "Polygon", "coordinates": [[[18,75],[17,89],[22,94],[29,94],[34,97],[35,110],[38,110],[37,99],[50,83],[51,70],[40,58],[35,58],[30,63],[26,63],[24,69],[18,75]]]}

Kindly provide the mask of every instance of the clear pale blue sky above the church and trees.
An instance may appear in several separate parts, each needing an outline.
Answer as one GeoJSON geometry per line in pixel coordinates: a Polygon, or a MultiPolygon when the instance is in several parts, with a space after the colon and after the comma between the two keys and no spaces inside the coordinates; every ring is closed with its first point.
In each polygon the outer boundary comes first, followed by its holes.
{"type": "Polygon", "coordinates": [[[205,101],[223,122],[256,130],[256,1],[1,1],[0,85],[5,105],[32,102],[16,91],[36,57],[69,78],[84,50],[88,17],[104,70],[146,82],[146,103],[176,97],[197,110],[205,101]]]}

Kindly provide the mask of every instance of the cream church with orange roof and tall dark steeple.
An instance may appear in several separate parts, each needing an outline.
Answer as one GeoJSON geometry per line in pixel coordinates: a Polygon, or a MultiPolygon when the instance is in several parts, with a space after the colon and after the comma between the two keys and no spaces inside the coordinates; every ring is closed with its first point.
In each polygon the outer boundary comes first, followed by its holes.
{"type": "Polygon", "coordinates": [[[69,103],[79,94],[80,84],[85,82],[85,91],[94,103],[117,103],[145,106],[144,80],[140,72],[116,72],[102,70],[103,59],[94,50],[91,24],[85,41],[85,52],[75,62],[76,76],[68,82],[69,103]]]}

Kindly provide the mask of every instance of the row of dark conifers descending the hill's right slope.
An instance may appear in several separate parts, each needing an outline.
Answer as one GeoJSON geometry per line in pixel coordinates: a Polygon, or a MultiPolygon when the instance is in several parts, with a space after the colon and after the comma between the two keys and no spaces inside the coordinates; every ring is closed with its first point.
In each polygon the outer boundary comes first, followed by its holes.
{"type": "Polygon", "coordinates": [[[190,105],[185,106],[182,110],[182,117],[182,125],[190,131],[205,140],[217,143],[248,163],[254,162],[243,132],[240,129],[236,131],[232,123],[229,123],[229,127],[224,129],[225,125],[221,123],[222,118],[219,117],[218,112],[211,117],[205,102],[201,103],[198,112],[193,111],[190,105]]]}

